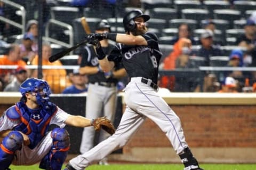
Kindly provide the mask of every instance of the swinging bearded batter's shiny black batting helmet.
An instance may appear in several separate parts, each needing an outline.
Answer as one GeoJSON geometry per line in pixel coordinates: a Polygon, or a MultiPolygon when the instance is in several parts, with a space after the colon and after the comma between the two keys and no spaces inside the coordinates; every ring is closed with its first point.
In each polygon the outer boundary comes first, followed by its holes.
{"type": "Polygon", "coordinates": [[[148,21],[150,19],[149,15],[143,14],[141,10],[132,10],[125,14],[123,19],[123,25],[125,32],[133,31],[136,28],[136,24],[134,22],[135,18],[142,17],[144,21],[148,21]]]}

